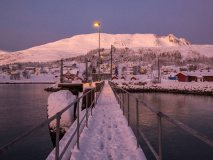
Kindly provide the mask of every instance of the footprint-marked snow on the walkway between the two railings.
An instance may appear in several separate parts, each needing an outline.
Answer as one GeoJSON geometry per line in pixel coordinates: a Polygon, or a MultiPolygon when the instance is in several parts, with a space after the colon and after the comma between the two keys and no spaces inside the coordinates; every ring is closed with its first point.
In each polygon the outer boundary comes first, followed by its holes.
{"type": "Polygon", "coordinates": [[[75,146],[71,152],[71,160],[146,159],[108,84],[80,136],[80,150],[75,146]]]}

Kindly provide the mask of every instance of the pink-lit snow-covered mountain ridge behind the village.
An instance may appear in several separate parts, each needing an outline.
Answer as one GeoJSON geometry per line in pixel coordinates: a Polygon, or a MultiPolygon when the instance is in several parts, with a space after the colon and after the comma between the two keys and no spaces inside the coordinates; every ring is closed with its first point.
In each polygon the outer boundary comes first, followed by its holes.
{"type": "MultiPolygon", "coordinates": [[[[1,52],[0,65],[14,62],[46,62],[61,58],[85,55],[88,51],[98,48],[98,33],[76,35],[71,38],[36,46],[23,51],[1,52]]],[[[106,34],[101,33],[101,48],[173,48],[190,47],[190,42],[177,38],[172,34],[167,37],[158,37],[154,34],[106,34]]],[[[211,47],[212,50],[212,47],[211,47]]]]}

